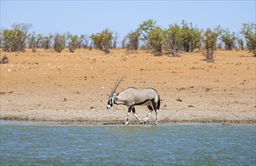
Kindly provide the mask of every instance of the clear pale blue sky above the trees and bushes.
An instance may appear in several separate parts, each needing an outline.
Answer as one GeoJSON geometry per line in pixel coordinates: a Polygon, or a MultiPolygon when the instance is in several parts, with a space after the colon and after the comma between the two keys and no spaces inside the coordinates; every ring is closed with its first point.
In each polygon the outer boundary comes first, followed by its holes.
{"type": "Polygon", "coordinates": [[[242,23],[255,23],[256,0],[251,1],[11,1],[1,0],[1,28],[32,23],[30,31],[91,35],[109,28],[121,37],[143,21],[161,28],[182,20],[200,29],[215,26],[239,32],[242,23]]]}

